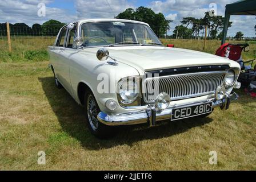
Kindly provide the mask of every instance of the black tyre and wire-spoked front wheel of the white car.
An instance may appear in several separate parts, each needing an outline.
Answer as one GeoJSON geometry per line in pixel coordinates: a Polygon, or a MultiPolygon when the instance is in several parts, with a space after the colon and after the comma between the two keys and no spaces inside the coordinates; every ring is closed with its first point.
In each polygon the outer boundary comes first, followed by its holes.
{"type": "Polygon", "coordinates": [[[114,128],[112,126],[106,126],[98,121],[97,115],[99,112],[99,106],[93,93],[91,91],[85,93],[85,113],[89,130],[97,138],[108,139],[113,137],[115,134],[114,128]]]}

